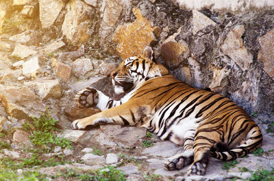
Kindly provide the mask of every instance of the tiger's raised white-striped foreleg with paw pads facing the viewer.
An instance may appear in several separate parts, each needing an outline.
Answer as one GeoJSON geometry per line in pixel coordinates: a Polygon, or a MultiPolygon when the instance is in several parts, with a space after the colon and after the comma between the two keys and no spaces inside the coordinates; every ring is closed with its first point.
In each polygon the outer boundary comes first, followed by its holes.
{"type": "Polygon", "coordinates": [[[105,96],[103,92],[92,87],[86,87],[86,89],[79,91],[75,96],[75,101],[79,107],[97,107],[101,111],[123,103],[120,100],[116,101],[105,96]]]}

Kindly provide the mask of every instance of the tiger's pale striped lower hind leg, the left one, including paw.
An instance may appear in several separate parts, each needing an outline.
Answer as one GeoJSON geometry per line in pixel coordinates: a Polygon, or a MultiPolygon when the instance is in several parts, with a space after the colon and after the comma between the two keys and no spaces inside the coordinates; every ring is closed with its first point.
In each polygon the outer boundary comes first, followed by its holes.
{"type": "Polygon", "coordinates": [[[164,167],[168,170],[182,169],[193,162],[194,152],[193,152],[193,143],[194,143],[195,130],[188,130],[184,139],[184,152],[175,154],[168,158],[164,163],[164,167]]]}

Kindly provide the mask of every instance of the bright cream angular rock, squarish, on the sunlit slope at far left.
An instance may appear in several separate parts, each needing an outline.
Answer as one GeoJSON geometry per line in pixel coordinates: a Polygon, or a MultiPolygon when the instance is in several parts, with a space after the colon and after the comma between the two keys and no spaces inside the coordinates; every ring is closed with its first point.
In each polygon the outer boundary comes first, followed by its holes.
{"type": "Polygon", "coordinates": [[[23,74],[25,76],[35,77],[40,72],[38,56],[31,57],[23,64],[23,74]]]}

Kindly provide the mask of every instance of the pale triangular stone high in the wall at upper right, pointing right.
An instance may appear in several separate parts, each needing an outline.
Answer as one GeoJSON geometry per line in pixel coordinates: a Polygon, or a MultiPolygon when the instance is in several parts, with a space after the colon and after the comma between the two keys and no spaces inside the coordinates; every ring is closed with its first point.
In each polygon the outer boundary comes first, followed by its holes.
{"type": "Polygon", "coordinates": [[[213,20],[208,18],[208,16],[205,16],[201,12],[198,12],[197,10],[192,10],[192,33],[195,35],[199,30],[209,26],[214,25],[216,26],[216,23],[214,23],[213,20]]]}

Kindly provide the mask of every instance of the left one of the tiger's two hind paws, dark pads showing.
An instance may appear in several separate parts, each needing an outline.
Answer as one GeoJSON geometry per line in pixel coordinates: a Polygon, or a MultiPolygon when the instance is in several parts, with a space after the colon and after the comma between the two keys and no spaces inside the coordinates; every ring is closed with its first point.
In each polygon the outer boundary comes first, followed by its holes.
{"type": "Polygon", "coordinates": [[[183,152],[181,154],[175,154],[168,158],[164,163],[164,167],[168,170],[182,169],[189,165],[193,161],[192,152],[183,152]]]}

